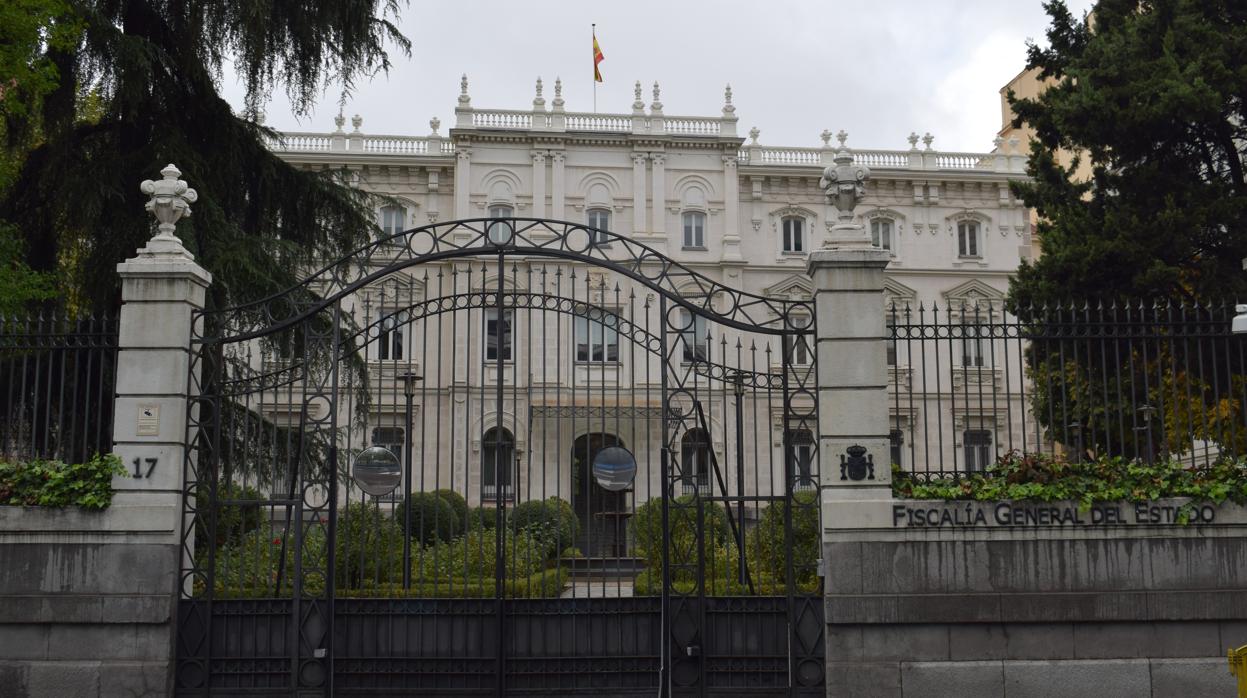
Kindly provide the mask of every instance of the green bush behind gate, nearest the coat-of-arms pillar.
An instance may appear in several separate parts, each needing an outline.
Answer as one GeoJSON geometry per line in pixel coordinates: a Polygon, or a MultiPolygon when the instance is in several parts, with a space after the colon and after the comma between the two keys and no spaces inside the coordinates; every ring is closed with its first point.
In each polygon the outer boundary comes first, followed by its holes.
{"type": "MultiPolygon", "coordinates": [[[[818,492],[799,491],[793,494],[792,505],[792,566],[796,582],[809,586],[818,582],[818,558],[823,542],[818,528],[818,492]]],[[[782,586],[787,578],[784,541],[784,512],[789,502],[771,502],[762,511],[762,519],[752,531],[754,540],[747,541],[751,572],[778,581],[782,586]]]]}

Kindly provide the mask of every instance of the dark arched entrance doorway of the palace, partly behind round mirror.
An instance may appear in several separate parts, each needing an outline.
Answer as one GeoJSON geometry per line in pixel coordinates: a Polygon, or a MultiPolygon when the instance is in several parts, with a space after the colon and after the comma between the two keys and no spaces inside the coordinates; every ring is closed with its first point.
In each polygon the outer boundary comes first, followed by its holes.
{"type": "Polygon", "coordinates": [[[594,480],[594,457],[607,446],[625,444],[599,431],[579,436],[571,446],[571,507],[580,519],[577,546],[587,557],[621,557],[627,548],[632,490],[612,492],[594,480]]]}

